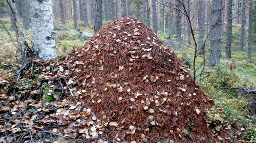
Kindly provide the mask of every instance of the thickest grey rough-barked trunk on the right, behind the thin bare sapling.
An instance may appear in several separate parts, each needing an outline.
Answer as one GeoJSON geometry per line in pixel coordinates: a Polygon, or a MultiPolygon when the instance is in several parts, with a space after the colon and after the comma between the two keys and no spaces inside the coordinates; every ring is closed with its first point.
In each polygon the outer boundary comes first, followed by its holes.
{"type": "Polygon", "coordinates": [[[216,67],[221,57],[221,16],[222,0],[211,1],[211,33],[210,33],[210,56],[209,66],[216,67]]]}

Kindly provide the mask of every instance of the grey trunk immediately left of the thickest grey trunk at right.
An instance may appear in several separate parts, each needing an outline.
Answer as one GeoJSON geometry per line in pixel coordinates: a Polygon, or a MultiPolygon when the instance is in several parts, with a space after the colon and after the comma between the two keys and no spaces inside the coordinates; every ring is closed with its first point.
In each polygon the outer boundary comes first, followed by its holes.
{"type": "Polygon", "coordinates": [[[198,34],[198,49],[203,49],[204,47],[204,30],[205,30],[205,0],[199,0],[199,7],[198,7],[198,26],[199,26],[199,34],[198,34]]]}

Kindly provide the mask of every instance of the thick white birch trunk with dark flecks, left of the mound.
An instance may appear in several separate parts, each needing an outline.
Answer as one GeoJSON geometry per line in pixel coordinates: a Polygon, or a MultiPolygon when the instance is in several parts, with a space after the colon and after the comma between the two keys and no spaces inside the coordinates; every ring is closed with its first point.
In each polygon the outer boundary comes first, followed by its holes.
{"type": "Polygon", "coordinates": [[[55,59],[52,0],[33,0],[31,8],[33,50],[40,59],[55,59]]]}

